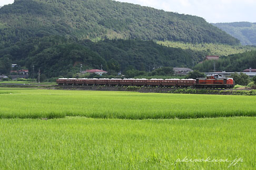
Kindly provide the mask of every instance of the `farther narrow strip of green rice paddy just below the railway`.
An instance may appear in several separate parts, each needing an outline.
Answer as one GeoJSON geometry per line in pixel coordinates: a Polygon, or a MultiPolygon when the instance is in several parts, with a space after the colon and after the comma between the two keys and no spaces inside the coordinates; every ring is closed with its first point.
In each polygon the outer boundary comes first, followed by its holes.
{"type": "Polygon", "coordinates": [[[256,96],[12,88],[2,88],[1,92],[0,118],[187,119],[256,115],[256,96]]]}

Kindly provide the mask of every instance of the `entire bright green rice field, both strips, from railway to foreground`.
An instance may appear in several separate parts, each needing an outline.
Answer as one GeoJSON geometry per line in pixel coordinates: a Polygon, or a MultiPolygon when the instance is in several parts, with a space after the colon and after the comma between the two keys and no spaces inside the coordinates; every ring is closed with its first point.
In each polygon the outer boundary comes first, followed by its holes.
{"type": "Polygon", "coordinates": [[[255,99],[0,88],[0,169],[255,169],[255,99]]]}

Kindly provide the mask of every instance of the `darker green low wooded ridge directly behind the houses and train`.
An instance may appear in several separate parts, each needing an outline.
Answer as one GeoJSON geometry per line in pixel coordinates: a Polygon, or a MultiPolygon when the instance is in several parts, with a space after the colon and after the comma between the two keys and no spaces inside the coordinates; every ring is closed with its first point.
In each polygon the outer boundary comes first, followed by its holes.
{"type": "MultiPolygon", "coordinates": [[[[32,72],[34,65],[36,70],[40,68],[41,73],[50,78],[70,77],[70,73],[80,72],[81,63],[83,70],[100,69],[102,65],[104,70],[116,73],[131,69],[152,71],[153,67],[158,66],[192,67],[203,60],[205,53],[169,48],[139,39],[92,42],[50,36],[17,42],[0,49],[0,56],[3,56],[0,66],[5,63],[5,66],[11,67],[13,62],[32,72]]],[[[5,72],[9,72],[9,69],[5,68],[5,72]]],[[[3,69],[2,73],[5,72],[3,69]]]]}

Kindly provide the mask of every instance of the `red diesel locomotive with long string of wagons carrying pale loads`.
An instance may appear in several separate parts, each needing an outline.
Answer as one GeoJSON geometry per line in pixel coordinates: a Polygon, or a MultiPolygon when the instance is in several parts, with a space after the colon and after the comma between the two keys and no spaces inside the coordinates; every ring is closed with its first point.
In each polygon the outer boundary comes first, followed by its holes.
{"type": "Polygon", "coordinates": [[[220,75],[194,79],[67,79],[56,80],[60,86],[140,86],[140,87],[174,87],[174,88],[233,88],[232,78],[220,75]]]}

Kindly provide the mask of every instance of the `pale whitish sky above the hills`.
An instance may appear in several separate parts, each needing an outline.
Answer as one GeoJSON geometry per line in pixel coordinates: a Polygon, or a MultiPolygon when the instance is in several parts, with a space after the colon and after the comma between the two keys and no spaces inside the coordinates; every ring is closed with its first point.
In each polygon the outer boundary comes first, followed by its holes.
{"type": "MultiPolygon", "coordinates": [[[[256,23],[256,0],[116,0],[203,17],[209,23],[256,23]]],[[[0,6],[14,0],[0,0],[0,6]]]]}

